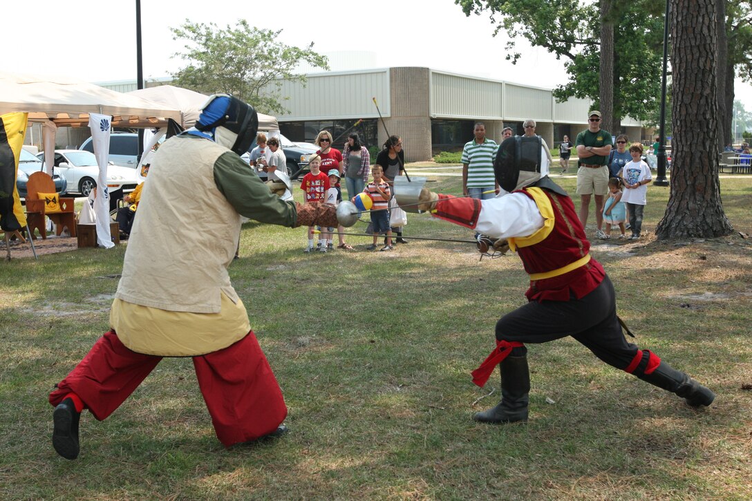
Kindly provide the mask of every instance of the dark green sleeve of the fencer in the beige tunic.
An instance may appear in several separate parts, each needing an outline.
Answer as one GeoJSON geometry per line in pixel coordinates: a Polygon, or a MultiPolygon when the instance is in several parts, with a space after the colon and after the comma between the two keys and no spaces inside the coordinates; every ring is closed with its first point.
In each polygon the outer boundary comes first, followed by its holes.
{"type": "Polygon", "coordinates": [[[298,220],[295,202],[283,202],[271,193],[256,172],[235,153],[223,153],[214,162],[214,182],[242,216],[290,227],[298,220]]]}

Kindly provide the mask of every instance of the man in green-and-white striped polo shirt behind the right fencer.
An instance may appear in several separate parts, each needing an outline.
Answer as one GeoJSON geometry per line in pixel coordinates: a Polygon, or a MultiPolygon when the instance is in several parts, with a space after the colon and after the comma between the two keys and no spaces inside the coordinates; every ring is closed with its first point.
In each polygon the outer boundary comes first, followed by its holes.
{"type": "Polygon", "coordinates": [[[493,199],[496,196],[496,177],[493,160],[496,159],[496,141],[486,138],[486,126],[475,123],[475,139],[462,149],[462,194],[474,199],[493,199]]]}

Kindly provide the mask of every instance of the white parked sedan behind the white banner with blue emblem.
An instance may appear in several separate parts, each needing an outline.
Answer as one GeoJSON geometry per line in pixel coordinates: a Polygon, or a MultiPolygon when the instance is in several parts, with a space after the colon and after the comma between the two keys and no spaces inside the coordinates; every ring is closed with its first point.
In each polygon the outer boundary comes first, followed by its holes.
{"type": "MultiPolygon", "coordinates": [[[[44,161],[44,152],[37,156],[44,161]]],[[[68,180],[68,193],[89,196],[92,188],[96,187],[99,165],[94,153],[83,150],[55,150],[55,168],[68,180]]],[[[135,169],[120,167],[112,162],[108,165],[107,186],[110,189],[111,200],[123,198],[123,191],[134,190],[140,182],[135,169]]]]}

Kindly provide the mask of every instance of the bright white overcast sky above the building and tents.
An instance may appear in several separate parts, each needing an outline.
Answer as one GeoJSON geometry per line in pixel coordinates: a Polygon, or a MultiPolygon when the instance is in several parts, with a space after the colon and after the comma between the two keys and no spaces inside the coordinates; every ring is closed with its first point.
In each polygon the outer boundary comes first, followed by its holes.
{"type": "MultiPolygon", "coordinates": [[[[135,80],[135,0],[33,0],[5,2],[3,32],[17,50],[4,50],[2,68],[103,82],[135,80]]],[[[375,54],[378,67],[427,66],[552,89],[568,80],[563,61],[518,44],[517,65],[505,60],[505,35],[493,35],[487,16],[465,17],[453,0],[381,2],[141,2],[144,77],[167,77],[183,61],[171,27],[192,22],[283,29],[280,40],[320,53],[355,50],[375,54]],[[428,8],[426,10],[426,8],[428,8]]],[[[660,68],[645,74],[660,78],[660,68]]],[[[752,111],[752,86],[737,80],[736,99],[752,111]]]]}

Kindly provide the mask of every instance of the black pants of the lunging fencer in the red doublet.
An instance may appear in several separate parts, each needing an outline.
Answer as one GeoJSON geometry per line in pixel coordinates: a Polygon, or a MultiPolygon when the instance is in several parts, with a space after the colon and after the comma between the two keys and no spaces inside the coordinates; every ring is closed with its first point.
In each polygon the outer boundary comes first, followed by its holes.
{"type": "MultiPolygon", "coordinates": [[[[616,316],[616,293],[608,275],[582,299],[529,302],[504,315],[496,323],[496,339],[528,344],[572,336],[600,360],[626,369],[638,348],[624,338],[616,316]]],[[[522,356],[527,348],[514,348],[522,356]]],[[[640,364],[642,365],[642,364],[640,364]]],[[[636,374],[635,374],[636,375],[636,374]]]]}

